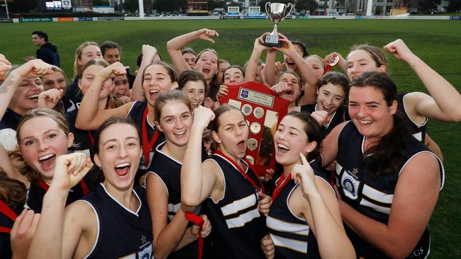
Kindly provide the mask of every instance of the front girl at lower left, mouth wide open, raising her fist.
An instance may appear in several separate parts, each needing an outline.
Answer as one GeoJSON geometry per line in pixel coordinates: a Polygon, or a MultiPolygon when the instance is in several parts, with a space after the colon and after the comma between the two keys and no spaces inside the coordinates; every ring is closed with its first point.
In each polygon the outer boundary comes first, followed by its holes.
{"type": "Polygon", "coordinates": [[[60,156],[43,201],[31,258],[152,258],[152,223],[145,190],[134,185],[142,149],[138,127],[113,117],[95,134],[96,166],[104,182],[65,208],[70,188],[91,168],[79,154],[60,156]]]}

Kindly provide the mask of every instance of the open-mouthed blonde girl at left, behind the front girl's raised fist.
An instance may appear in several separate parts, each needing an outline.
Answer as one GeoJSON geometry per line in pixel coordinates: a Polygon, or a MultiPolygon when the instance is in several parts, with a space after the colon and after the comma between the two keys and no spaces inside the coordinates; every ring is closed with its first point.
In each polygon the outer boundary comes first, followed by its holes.
{"type": "MultiPolygon", "coordinates": [[[[74,135],[60,113],[48,109],[30,110],[18,125],[18,146],[30,167],[30,188],[26,206],[40,213],[45,193],[50,188],[58,156],[67,154],[74,143],[74,135]]],[[[91,184],[84,180],[67,197],[66,204],[78,200],[89,192],[91,184]]]]}

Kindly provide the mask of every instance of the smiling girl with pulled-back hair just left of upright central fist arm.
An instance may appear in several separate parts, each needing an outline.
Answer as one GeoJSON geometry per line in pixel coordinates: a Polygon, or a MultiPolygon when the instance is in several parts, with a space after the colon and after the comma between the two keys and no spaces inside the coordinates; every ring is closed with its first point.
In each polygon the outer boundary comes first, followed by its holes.
{"type": "MultiPolygon", "coordinates": [[[[165,142],[155,148],[146,189],[154,234],[155,258],[196,258],[199,226],[188,224],[184,210],[194,207],[181,204],[181,166],[192,124],[191,105],[177,90],[160,93],[155,101],[155,125],[165,134],[165,142]]],[[[200,208],[195,209],[200,212],[200,208]]],[[[201,236],[211,225],[205,215],[201,236]]]]}

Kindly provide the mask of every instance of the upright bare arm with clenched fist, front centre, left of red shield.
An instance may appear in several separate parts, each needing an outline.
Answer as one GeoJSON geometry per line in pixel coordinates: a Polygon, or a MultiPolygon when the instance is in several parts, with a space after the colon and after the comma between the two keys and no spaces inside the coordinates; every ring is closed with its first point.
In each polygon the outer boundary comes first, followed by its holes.
{"type": "Polygon", "coordinates": [[[194,110],[189,141],[181,168],[181,202],[185,206],[196,207],[211,195],[216,183],[216,168],[212,161],[201,163],[201,139],[204,129],[213,119],[209,108],[199,106],[194,110]]]}

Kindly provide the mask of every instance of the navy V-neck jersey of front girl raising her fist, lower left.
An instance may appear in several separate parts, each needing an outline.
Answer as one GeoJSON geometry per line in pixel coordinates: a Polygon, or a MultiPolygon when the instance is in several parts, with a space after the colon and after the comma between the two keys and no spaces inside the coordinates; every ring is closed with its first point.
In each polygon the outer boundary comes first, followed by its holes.
{"type": "Polygon", "coordinates": [[[140,202],[137,212],[121,205],[102,183],[82,198],[98,221],[96,244],[87,258],[152,258],[152,221],[145,189],[134,185],[133,194],[140,202]]]}

